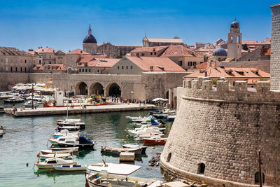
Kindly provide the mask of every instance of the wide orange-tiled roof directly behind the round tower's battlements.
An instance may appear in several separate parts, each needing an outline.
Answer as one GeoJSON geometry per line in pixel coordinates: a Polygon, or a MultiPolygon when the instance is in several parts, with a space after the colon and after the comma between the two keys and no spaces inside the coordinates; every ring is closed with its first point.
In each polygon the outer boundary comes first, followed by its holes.
{"type": "Polygon", "coordinates": [[[270,74],[254,67],[207,67],[185,77],[209,76],[210,78],[270,78],[270,74]],[[256,74],[258,72],[258,74],[256,74]]]}

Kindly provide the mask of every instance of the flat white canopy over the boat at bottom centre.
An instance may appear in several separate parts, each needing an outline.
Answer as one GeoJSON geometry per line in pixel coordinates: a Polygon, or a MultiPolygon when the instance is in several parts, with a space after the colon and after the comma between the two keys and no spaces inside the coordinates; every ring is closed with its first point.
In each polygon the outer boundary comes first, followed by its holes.
{"type": "Polygon", "coordinates": [[[127,164],[114,164],[114,163],[106,163],[106,166],[103,163],[98,163],[94,165],[90,165],[87,169],[92,170],[94,172],[106,172],[108,174],[119,174],[119,175],[130,175],[137,170],[139,170],[141,166],[139,165],[127,165],[127,164]]]}

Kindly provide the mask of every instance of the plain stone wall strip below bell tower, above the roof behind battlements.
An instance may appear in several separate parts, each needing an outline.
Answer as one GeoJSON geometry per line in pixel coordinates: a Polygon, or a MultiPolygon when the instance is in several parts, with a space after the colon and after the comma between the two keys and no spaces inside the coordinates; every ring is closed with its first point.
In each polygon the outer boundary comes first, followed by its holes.
{"type": "Polygon", "coordinates": [[[240,61],[240,62],[221,62],[220,67],[255,67],[270,73],[270,61],[240,61]]]}

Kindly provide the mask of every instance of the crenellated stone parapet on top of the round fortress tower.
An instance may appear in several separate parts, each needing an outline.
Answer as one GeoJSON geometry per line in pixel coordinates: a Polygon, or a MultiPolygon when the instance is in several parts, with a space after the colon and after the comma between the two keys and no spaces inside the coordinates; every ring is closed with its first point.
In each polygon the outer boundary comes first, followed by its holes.
{"type": "Polygon", "coordinates": [[[268,81],[258,81],[256,88],[248,88],[247,81],[235,81],[230,87],[228,81],[217,81],[214,87],[206,78],[186,79],[183,81],[183,98],[209,99],[228,102],[280,102],[280,91],[270,90],[268,81]]]}

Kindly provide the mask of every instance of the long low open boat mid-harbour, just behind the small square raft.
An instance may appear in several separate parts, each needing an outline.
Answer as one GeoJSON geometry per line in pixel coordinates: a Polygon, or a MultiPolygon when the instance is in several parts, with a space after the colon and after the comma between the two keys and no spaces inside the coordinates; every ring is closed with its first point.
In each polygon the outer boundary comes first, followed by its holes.
{"type": "Polygon", "coordinates": [[[112,154],[112,155],[120,155],[122,152],[134,153],[135,155],[141,155],[142,147],[137,148],[123,148],[123,147],[109,147],[109,146],[101,146],[101,153],[112,154]]]}

